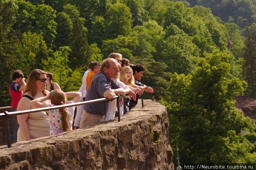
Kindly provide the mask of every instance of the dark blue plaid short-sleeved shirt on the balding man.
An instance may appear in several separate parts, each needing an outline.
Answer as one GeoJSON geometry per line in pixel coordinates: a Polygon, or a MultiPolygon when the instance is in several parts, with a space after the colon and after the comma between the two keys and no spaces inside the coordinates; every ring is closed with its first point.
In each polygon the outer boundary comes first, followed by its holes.
{"type": "MultiPolygon", "coordinates": [[[[91,84],[87,90],[85,101],[104,98],[105,91],[110,89],[121,88],[113,79],[109,79],[102,71],[93,76],[91,84]]],[[[86,112],[91,114],[106,115],[109,107],[109,101],[90,103],[84,105],[86,112]]]]}

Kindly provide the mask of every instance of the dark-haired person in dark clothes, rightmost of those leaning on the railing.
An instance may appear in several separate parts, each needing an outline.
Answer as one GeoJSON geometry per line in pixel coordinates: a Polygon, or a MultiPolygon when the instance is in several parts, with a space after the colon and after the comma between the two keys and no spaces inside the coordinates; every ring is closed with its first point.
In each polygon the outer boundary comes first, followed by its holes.
{"type": "MultiPolygon", "coordinates": [[[[140,65],[140,64],[135,64],[133,65],[132,67],[132,72],[133,72],[133,77],[135,79],[135,82],[134,84],[136,84],[137,86],[143,86],[144,88],[144,91],[146,92],[154,92],[154,89],[151,88],[151,87],[145,87],[144,84],[140,83],[138,80],[140,80],[142,77],[143,77],[143,71],[145,70],[145,67],[140,65]]],[[[132,107],[135,107],[138,103],[138,99],[139,99],[140,95],[136,94],[136,100],[133,101],[133,100],[130,100],[129,102],[129,110],[132,108],[132,107]]]]}

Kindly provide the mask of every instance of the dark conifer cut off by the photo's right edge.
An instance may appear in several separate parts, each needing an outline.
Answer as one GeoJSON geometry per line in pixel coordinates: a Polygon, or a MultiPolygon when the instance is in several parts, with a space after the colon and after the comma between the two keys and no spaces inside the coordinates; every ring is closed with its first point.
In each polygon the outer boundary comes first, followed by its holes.
{"type": "Polygon", "coordinates": [[[248,83],[249,94],[251,97],[256,98],[256,34],[246,27],[245,37],[242,75],[248,83]]]}

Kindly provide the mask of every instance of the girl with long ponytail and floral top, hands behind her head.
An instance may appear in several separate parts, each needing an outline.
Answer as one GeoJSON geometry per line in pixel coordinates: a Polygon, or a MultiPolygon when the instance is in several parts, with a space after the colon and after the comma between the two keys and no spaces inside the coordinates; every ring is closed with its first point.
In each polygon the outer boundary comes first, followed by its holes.
{"type": "MultiPolygon", "coordinates": [[[[51,106],[58,106],[58,105],[65,105],[79,102],[82,96],[81,92],[63,92],[59,89],[52,90],[46,97],[41,97],[34,99],[30,102],[30,105],[35,108],[42,108],[42,107],[51,107],[51,106]],[[68,101],[66,103],[66,96],[67,97],[74,97],[72,101],[68,101]],[[45,105],[41,102],[49,100],[52,105],[45,105]]],[[[72,131],[72,123],[74,117],[74,110],[75,106],[61,108],[61,109],[54,109],[54,110],[47,110],[46,113],[49,114],[50,120],[50,135],[57,135],[61,132],[72,131]]]]}

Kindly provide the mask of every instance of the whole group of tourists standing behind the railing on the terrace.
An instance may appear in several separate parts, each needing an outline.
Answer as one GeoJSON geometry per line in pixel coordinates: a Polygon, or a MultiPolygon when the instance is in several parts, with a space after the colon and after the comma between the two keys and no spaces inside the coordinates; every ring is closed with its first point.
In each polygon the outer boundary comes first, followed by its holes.
{"type": "MultiPolygon", "coordinates": [[[[16,70],[13,72],[10,85],[11,111],[59,106],[128,94],[129,97],[119,99],[120,115],[123,115],[135,107],[144,91],[154,92],[153,88],[139,82],[144,70],[145,68],[140,64],[130,64],[129,60],[122,58],[120,53],[111,53],[102,63],[97,61],[89,63],[78,92],[61,91],[60,86],[52,82],[52,73],[34,69],[25,82],[22,71],[16,70]],[[72,101],[67,101],[67,97],[73,97],[72,101]]],[[[74,129],[94,126],[116,117],[116,100],[77,106],[74,129]]],[[[71,131],[74,110],[75,106],[72,106],[14,116],[14,142],[71,131]]]]}

